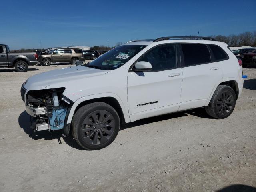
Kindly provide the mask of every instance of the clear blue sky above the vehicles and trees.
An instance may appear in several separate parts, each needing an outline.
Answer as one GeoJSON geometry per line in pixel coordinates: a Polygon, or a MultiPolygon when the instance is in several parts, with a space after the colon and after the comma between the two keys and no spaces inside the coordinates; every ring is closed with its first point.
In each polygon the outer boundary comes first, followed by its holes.
{"type": "Polygon", "coordinates": [[[3,0],[0,44],[10,49],[109,45],[161,36],[256,30],[256,0],[3,0]],[[74,3],[73,3],[74,2],[74,3]]]}

